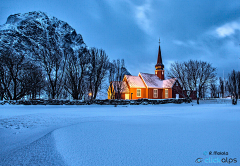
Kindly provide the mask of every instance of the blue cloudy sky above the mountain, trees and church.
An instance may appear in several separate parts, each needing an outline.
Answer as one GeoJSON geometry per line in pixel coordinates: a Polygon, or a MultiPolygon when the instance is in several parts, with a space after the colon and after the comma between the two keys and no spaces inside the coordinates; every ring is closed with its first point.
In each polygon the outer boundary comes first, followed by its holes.
{"type": "Polygon", "coordinates": [[[190,59],[219,76],[240,70],[239,0],[1,0],[0,24],[30,11],[68,22],[87,46],[124,58],[132,75],[154,73],[159,37],[166,70],[190,59]]]}

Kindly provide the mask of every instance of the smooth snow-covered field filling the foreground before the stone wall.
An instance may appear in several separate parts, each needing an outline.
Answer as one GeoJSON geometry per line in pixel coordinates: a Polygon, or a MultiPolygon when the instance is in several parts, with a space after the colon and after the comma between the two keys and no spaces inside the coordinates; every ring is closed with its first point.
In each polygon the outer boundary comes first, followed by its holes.
{"type": "Polygon", "coordinates": [[[230,103],[0,106],[0,165],[239,165],[239,147],[230,103]]]}

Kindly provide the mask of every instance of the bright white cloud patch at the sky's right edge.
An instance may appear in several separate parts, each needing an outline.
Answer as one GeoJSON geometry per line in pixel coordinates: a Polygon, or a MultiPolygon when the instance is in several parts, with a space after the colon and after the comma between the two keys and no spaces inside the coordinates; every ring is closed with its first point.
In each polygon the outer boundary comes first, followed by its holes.
{"type": "Polygon", "coordinates": [[[227,23],[221,27],[216,29],[216,33],[218,37],[226,37],[230,35],[234,35],[236,30],[240,30],[240,23],[239,22],[231,22],[227,23]]]}

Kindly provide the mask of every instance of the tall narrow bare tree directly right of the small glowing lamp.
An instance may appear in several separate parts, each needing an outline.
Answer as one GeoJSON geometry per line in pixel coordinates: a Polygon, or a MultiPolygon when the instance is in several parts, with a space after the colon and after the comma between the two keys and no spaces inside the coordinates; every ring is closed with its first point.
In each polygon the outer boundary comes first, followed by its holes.
{"type": "Polygon", "coordinates": [[[92,98],[96,99],[99,90],[102,88],[102,82],[107,74],[108,56],[102,49],[91,48],[89,50],[89,91],[92,98]]]}

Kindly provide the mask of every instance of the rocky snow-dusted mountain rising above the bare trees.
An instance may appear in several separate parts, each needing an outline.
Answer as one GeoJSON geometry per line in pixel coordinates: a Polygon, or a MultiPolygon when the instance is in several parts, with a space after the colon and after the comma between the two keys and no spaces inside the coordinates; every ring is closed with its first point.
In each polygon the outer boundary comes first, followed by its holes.
{"type": "Polygon", "coordinates": [[[0,26],[0,51],[14,49],[25,53],[33,48],[46,47],[47,43],[61,50],[86,48],[82,36],[75,29],[44,12],[10,15],[0,26]]]}

